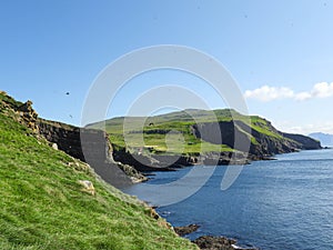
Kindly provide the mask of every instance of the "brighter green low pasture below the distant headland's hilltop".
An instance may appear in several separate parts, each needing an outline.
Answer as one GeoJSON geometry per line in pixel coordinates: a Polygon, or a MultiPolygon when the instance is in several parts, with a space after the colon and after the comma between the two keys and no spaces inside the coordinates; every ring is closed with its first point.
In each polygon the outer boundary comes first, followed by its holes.
{"type": "Polygon", "coordinates": [[[190,126],[193,123],[190,121],[168,121],[153,126],[145,124],[143,131],[138,130],[140,126],[135,127],[135,123],[131,123],[132,127],[125,130],[123,130],[121,124],[109,124],[107,132],[114,148],[128,148],[130,151],[131,149],[135,151],[140,148],[150,148],[151,152],[165,154],[233,151],[225,144],[218,146],[195,138],[190,130],[190,126]]]}

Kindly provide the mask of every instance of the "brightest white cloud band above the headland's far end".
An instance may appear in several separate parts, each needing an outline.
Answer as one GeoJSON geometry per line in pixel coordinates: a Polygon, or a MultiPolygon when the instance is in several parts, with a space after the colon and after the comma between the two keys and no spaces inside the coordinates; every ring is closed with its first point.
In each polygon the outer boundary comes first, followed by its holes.
{"type": "Polygon", "coordinates": [[[295,93],[292,89],[286,87],[263,86],[254,90],[246,90],[244,97],[246,99],[254,99],[263,102],[279,99],[305,101],[314,98],[330,98],[333,97],[333,82],[319,82],[314,84],[310,91],[299,93],[295,93]]]}

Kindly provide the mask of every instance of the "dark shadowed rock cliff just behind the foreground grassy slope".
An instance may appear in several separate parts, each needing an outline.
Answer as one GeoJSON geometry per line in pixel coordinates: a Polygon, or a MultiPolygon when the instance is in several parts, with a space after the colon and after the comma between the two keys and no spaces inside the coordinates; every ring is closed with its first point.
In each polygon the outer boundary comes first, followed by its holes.
{"type": "Polygon", "coordinates": [[[104,181],[121,188],[147,180],[131,166],[113,160],[113,149],[104,131],[77,128],[43,119],[38,119],[37,123],[40,134],[48,141],[57,143],[59,150],[89,163],[104,181]]]}

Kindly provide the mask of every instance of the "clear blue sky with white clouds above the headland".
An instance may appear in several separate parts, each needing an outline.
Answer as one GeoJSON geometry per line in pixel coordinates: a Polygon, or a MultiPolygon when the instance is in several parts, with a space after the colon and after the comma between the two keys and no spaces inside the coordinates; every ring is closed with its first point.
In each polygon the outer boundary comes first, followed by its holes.
{"type": "MultiPolygon", "coordinates": [[[[285,132],[333,133],[332,13],[332,0],[2,0],[0,89],[32,100],[42,118],[81,126],[87,97],[107,66],[141,48],[175,44],[218,60],[250,114],[285,132]]],[[[203,79],[162,69],[124,82],[105,118],[129,113],[135,100],[165,84],[192,91],[209,108],[228,107],[203,79]]]]}

